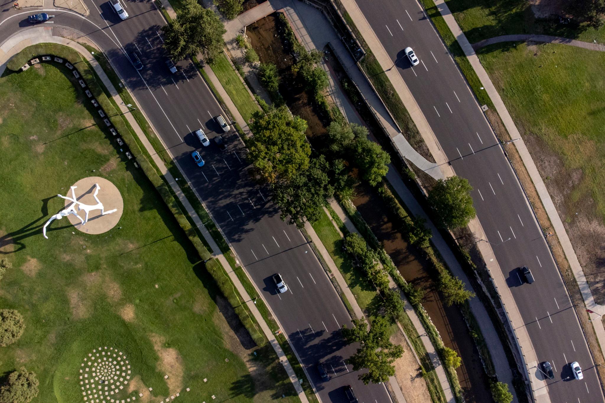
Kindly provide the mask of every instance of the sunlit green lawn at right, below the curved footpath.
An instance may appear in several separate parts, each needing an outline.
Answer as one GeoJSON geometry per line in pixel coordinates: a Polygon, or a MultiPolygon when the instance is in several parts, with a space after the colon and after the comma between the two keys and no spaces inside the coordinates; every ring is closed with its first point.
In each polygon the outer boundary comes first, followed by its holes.
{"type": "Polygon", "coordinates": [[[566,170],[577,170],[566,210],[589,205],[605,219],[605,77],[595,74],[605,69],[603,54],[566,45],[492,45],[480,60],[522,134],[537,135],[566,170]]]}

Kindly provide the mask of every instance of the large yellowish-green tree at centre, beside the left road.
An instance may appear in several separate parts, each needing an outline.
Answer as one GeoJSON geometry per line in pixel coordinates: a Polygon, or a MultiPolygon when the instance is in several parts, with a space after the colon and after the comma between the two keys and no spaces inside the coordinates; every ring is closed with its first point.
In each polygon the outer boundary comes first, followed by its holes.
{"type": "Polygon", "coordinates": [[[309,168],[307,122],[292,116],[286,106],[254,112],[249,127],[254,135],[248,140],[248,156],[265,181],[290,181],[309,168]]]}

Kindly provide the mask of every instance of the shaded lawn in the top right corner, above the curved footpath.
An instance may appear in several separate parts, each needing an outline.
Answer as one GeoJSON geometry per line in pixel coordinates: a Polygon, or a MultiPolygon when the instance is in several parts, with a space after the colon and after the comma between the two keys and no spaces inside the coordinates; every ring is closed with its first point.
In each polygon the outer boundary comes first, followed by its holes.
{"type": "Polygon", "coordinates": [[[600,30],[536,19],[527,0],[446,0],[466,37],[479,40],[509,34],[545,34],[592,42],[605,42],[605,27],[600,30]]]}

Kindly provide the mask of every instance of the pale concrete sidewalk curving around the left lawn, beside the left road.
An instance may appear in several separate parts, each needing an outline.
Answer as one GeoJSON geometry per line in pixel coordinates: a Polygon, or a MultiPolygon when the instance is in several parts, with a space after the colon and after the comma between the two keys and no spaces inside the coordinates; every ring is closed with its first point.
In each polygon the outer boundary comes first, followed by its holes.
{"type": "MultiPolygon", "coordinates": [[[[290,377],[290,381],[292,381],[292,384],[293,384],[294,388],[296,389],[296,393],[298,393],[298,397],[301,399],[301,401],[303,403],[308,403],[309,400],[307,399],[307,396],[304,394],[304,392],[301,388],[301,385],[299,384],[298,378],[296,377],[296,374],[295,374],[294,370],[292,369],[292,366],[290,365],[286,355],[284,354],[283,350],[281,349],[280,344],[276,340],[275,335],[273,335],[273,333],[269,329],[269,326],[267,326],[267,324],[265,323],[262,315],[260,314],[260,312],[257,309],[257,306],[253,303],[252,298],[250,298],[250,295],[247,293],[246,289],[244,289],[244,286],[241,284],[240,279],[238,279],[235,272],[231,269],[231,266],[229,266],[229,262],[227,262],[227,259],[224,257],[220,248],[218,248],[217,243],[214,241],[214,239],[212,239],[211,234],[208,232],[206,227],[204,227],[204,225],[202,224],[201,219],[199,218],[199,216],[195,212],[194,208],[192,207],[192,205],[189,203],[188,199],[185,197],[185,195],[181,191],[181,188],[178,186],[177,181],[175,181],[174,177],[168,171],[168,169],[166,168],[166,166],[165,166],[164,162],[162,161],[162,159],[160,158],[160,156],[157,155],[157,153],[151,146],[151,143],[149,143],[149,140],[147,139],[147,137],[141,130],[137,121],[134,119],[134,117],[132,117],[132,114],[129,113],[130,111],[129,111],[128,107],[126,107],[124,105],[122,98],[119,97],[116,88],[113,86],[110,79],[105,74],[105,71],[103,71],[103,69],[101,68],[99,63],[97,63],[97,60],[94,59],[94,57],[90,54],[90,52],[88,52],[84,47],[82,47],[82,45],[78,44],[77,42],[74,42],[73,40],[65,39],[64,37],[53,36],[51,28],[40,27],[40,28],[33,28],[30,30],[26,30],[26,31],[19,31],[18,34],[16,34],[15,36],[12,36],[9,40],[5,41],[0,46],[0,50],[1,50],[0,51],[0,75],[4,72],[4,69],[6,68],[6,62],[8,59],[10,59],[10,57],[19,53],[19,51],[23,50],[25,47],[28,47],[28,46],[34,45],[34,44],[39,44],[39,43],[54,43],[54,44],[60,44],[60,45],[65,45],[65,46],[71,47],[74,50],[76,50],[77,52],[79,52],[80,54],[82,54],[82,57],[84,57],[88,61],[88,63],[90,63],[90,65],[93,67],[95,73],[97,73],[100,80],[103,82],[103,85],[105,85],[105,87],[108,89],[108,91],[110,91],[111,97],[114,99],[114,101],[117,103],[117,105],[120,108],[120,112],[122,112],[122,115],[126,117],[126,119],[128,120],[128,123],[134,129],[135,134],[137,135],[139,140],[142,142],[143,146],[145,146],[145,149],[147,150],[147,152],[152,156],[153,162],[159,168],[160,172],[166,179],[166,182],[168,182],[172,191],[177,195],[179,201],[183,204],[183,206],[185,207],[185,210],[187,211],[189,216],[191,216],[192,220],[194,221],[195,226],[198,228],[198,230],[200,230],[201,234],[204,236],[204,239],[206,239],[206,241],[209,243],[209,245],[212,249],[212,251],[211,251],[212,256],[214,256],[215,259],[218,259],[218,261],[221,263],[221,265],[223,265],[223,268],[229,274],[229,278],[235,284],[235,288],[237,288],[237,291],[240,293],[243,300],[246,301],[247,307],[250,309],[250,312],[252,312],[252,314],[254,315],[258,324],[261,326],[263,333],[265,334],[267,339],[269,339],[269,343],[271,344],[273,349],[275,349],[275,352],[277,353],[277,356],[280,359],[281,364],[283,364],[284,369],[286,369],[286,372],[287,372],[288,376],[290,377]]],[[[170,152],[167,147],[165,147],[165,149],[168,150],[168,152],[170,152]]],[[[171,155],[171,157],[174,159],[174,156],[171,155]]],[[[181,174],[182,174],[182,172],[181,172],[181,174]]],[[[189,179],[184,174],[183,174],[183,177],[189,183],[191,183],[191,181],[189,181],[189,179]]],[[[192,189],[194,189],[194,188],[192,187],[192,189]]],[[[200,198],[199,195],[197,195],[197,196],[198,196],[198,198],[200,198]]],[[[201,198],[200,198],[200,202],[202,202],[202,204],[203,204],[203,201],[201,201],[201,198]]],[[[204,208],[205,208],[205,206],[204,206],[204,208]]],[[[208,209],[206,209],[206,210],[208,210],[208,209]]]]}

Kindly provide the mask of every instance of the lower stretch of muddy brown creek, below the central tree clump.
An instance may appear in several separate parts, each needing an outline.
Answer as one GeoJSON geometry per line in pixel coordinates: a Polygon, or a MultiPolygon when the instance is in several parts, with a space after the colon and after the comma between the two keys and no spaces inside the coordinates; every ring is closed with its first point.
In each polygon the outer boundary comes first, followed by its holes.
{"type": "Polygon", "coordinates": [[[424,308],[439,330],[445,346],[456,350],[462,357],[462,365],[456,372],[464,391],[465,401],[493,402],[488,389],[488,378],[462,314],[456,306],[448,308],[443,303],[442,295],[436,289],[434,270],[427,272],[426,269],[430,267],[430,263],[416,253],[413,247],[408,247],[397,228],[391,224],[388,215],[384,213],[388,210],[381,196],[373,189],[366,185],[356,187],[353,204],[370,225],[378,240],[382,242],[385,251],[393,259],[404,279],[427,291],[424,308]]]}

